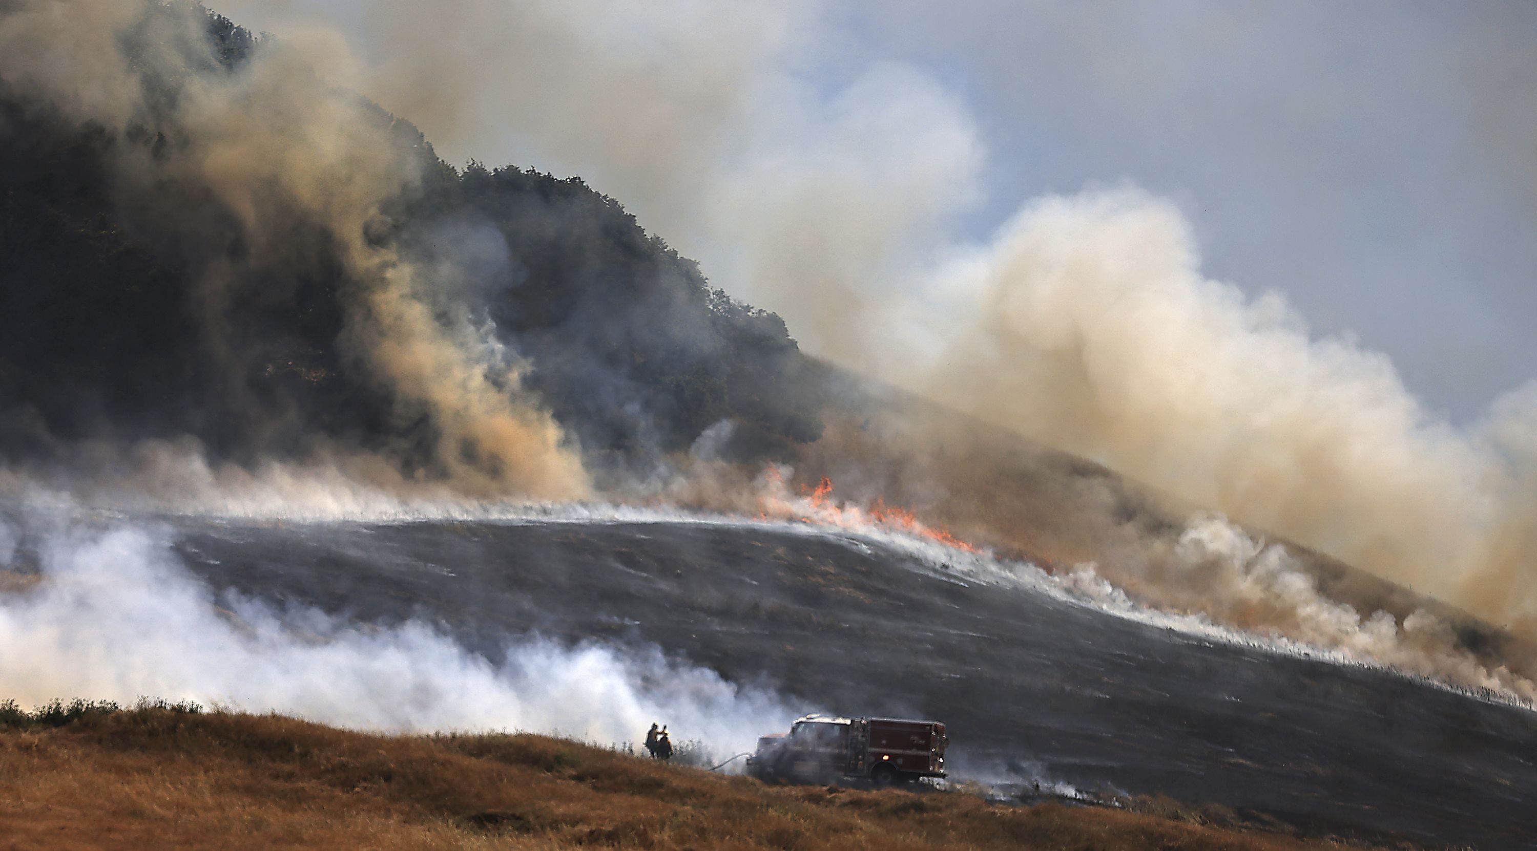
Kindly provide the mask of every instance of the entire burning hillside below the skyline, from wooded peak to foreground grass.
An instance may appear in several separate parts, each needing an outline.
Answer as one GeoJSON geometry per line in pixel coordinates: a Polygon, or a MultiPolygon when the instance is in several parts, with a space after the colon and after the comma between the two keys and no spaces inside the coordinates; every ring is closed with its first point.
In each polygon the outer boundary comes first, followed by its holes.
{"type": "Polygon", "coordinates": [[[536,639],[715,747],[764,694],[944,717],[958,776],[1117,806],[0,702],[9,846],[1528,846],[1520,624],[819,363],[601,187],[446,163],[198,0],[58,8],[0,0],[0,700],[636,727],[512,716],[536,639]]]}

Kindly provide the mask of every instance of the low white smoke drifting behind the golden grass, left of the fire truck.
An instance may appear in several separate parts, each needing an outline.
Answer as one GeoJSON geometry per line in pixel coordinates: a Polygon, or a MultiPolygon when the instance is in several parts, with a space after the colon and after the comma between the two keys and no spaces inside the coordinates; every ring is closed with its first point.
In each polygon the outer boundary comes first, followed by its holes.
{"type": "Polygon", "coordinates": [[[0,576],[28,579],[0,585],[5,691],[26,705],[154,694],[355,728],[599,743],[635,742],[664,722],[722,751],[749,750],[796,714],[655,647],[533,636],[509,639],[492,664],[430,624],[373,627],[215,594],[146,525],[60,513],[0,522],[0,576]]]}

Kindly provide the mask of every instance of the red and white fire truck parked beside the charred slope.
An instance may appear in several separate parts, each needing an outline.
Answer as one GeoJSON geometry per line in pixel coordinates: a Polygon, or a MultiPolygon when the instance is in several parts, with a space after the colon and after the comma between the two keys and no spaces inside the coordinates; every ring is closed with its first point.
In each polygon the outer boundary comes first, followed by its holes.
{"type": "Polygon", "coordinates": [[[868,780],[890,786],[944,777],[948,743],[938,720],[808,714],[788,733],[758,739],[747,773],[779,783],[868,780]]]}

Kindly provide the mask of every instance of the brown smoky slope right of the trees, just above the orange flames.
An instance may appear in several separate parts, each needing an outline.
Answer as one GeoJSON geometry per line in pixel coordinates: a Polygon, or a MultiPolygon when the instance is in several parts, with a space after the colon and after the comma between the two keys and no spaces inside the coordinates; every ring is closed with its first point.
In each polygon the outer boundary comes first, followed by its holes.
{"type": "MultiPolygon", "coordinates": [[[[822,439],[796,447],[798,487],[830,476],[835,495],[855,504],[911,505],[961,539],[1064,573],[1094,564],[1134,599],[1170,611],[1205,613],[1243,630],[1334,645],[1334,636],[1299,628],[1296,602],[1276,608],[1223,588],[1210,565],[1174,556],[1203,505],[1177,499],[1094,461],[1033,442],[911,393],[824,367],[832,404],[822,439]],[[1236,599],[1237,598],[1237,599],[1236,599]],[[1288,610],[1288,607],[1291,607],[1288,610]]],[[[1532,637],[1480,621],[1314,548],[1234,518],[1254,541],[1279,544],[1286,567],[1308,584],[1310,601],[1346,621],[1385,611],[1403,624],[1416,611],[1446,625],[1440,647],[1489,670],[1537,673],[1532,637]],[[1348,610],[1343,607],[1349,607],[1348,610]]],[[[1223,565],[1242,573],[1253,565],[1223,565]]],[[[1270,602],[1270,601],[1266,601],[1270,602]]]]}

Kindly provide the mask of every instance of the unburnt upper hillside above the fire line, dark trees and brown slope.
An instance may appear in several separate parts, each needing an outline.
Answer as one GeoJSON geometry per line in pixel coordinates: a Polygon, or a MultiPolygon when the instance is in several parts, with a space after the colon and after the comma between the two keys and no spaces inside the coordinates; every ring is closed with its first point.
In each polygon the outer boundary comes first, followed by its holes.
{"type": "Polygon", "coordinates": [[[0,72],[6,473],[183,498],[180,469],[143,462],[171,445],[235,481],[341,467],[407,495],[753,515],[747,482],[788,462],[799,488],[830,476],[1051,570],[1093,562],[1139,602],[1325,647],[1423,610],[1436,661],[1537,670],[1529,642],[1299,547],[1300,605],[1223,591],[1210,575],[1243,585],[1248,562],[1177,558],[1200,507],[815,363],[579,178],[453,167],[281,43],[186,0],[143,9],[115,34],[123,78],[86,81],[134,92],[121,115],[0,72]],[[735,469],[692,476],[695,455],[735,469]]]}

